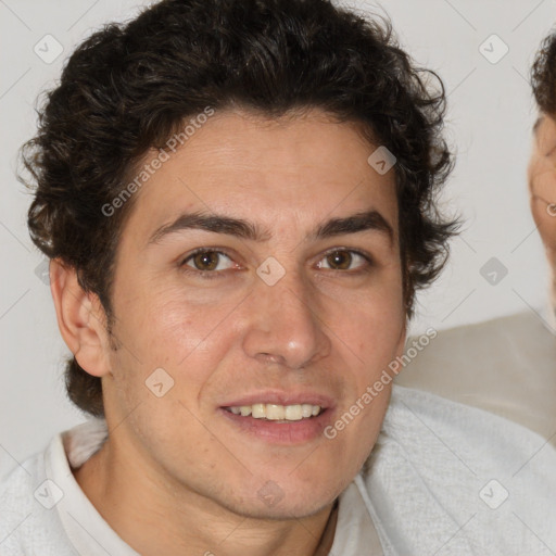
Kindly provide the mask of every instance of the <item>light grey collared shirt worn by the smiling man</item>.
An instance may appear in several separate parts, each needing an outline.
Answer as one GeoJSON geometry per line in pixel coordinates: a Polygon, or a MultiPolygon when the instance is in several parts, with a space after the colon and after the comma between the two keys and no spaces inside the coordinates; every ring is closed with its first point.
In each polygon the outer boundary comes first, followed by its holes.
{"type": "MultiPolygon", "coordinates": [[[[87,460],[105,434],[100,419],[71,429],[4,480],[2,556],[138,554],[98,514],[70,468],[87,460]]],[[[553,554],[555,494],[556,451],[545,439],[395,386],[377,445],[339,498],[330,555],[553,554]]]]}

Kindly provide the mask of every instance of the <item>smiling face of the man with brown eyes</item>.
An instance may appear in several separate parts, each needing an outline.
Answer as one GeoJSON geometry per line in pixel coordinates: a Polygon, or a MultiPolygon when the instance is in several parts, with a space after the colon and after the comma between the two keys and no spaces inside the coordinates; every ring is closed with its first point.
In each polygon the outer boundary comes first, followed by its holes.
{"type": "Polygon", "coordinates": [[[308,516],[353,479],[390,387],[334,439],[323,430],[405,334],[394,170],[368,165],[375,149],[319,112],[280,122],[223,112],[142,186],[118,245],[121,348],[106,350],[103,379],[123,465],[173,496],[251,517],[308,516]],[[191,213],[243,220],[261,237],[215,219],[212,231],[187,227],[179,218],[191,213]],[[323,412],[285,422],[230,409],[266,403],[323,412]]]}

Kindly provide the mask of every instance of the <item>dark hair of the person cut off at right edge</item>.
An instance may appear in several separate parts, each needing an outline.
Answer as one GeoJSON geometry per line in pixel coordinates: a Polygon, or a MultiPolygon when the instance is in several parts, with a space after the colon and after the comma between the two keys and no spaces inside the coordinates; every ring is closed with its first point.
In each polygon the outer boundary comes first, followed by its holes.
{"type": "Polygon", "coordinates": [[[531,67],[531,85],[539,109],[556,116],[556,30],[541,42],[531,67]]]}

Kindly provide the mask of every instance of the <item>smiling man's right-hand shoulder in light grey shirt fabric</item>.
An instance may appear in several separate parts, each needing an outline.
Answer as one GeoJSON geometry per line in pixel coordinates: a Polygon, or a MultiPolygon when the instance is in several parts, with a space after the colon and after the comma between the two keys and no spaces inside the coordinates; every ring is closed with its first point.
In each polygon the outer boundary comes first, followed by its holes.
{"type": "Polygon", "coordinates": [[[556,546],[556,451],[477,407],[394,387],[362,477],[379,534],[402,553],[536,554],[542,542],[556,546]]]}

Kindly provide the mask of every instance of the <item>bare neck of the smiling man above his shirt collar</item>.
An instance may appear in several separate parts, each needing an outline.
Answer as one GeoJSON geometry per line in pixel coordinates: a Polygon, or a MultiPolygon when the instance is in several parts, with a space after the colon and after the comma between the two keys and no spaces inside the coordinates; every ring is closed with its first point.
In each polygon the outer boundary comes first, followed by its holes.
{"type": "Polygon", "coordinates": [[[139,457],[124,465],[118,452],[109,439],[74,475],[103,519],[143,556],[319,556],[331,547],[333,504],[303,519],[253,519],[169,488],[139,457]]]}

